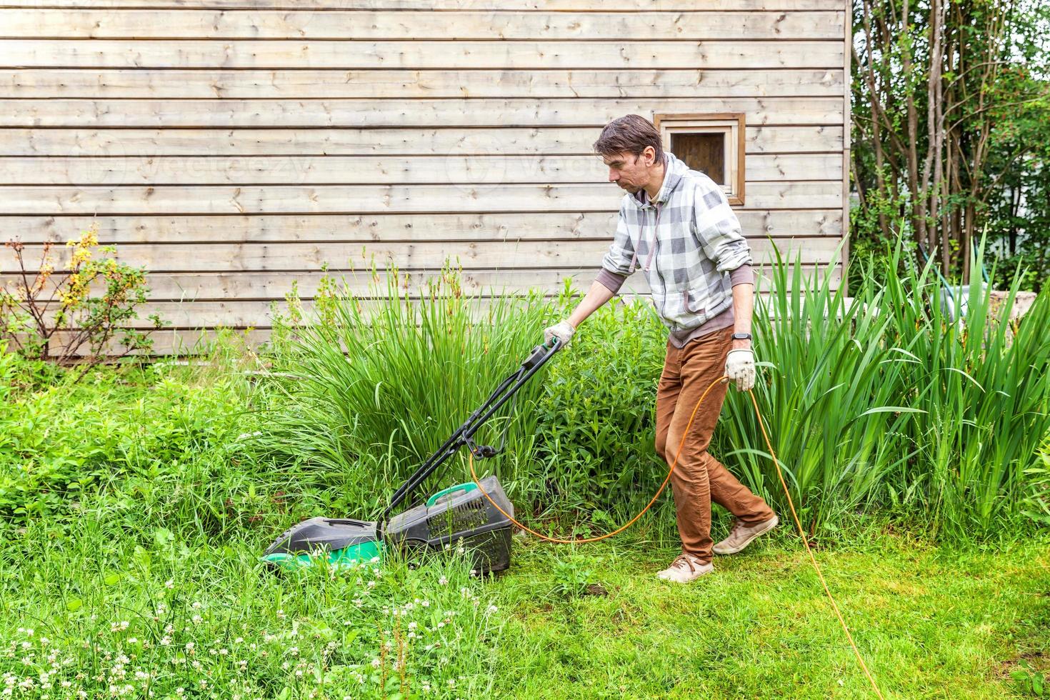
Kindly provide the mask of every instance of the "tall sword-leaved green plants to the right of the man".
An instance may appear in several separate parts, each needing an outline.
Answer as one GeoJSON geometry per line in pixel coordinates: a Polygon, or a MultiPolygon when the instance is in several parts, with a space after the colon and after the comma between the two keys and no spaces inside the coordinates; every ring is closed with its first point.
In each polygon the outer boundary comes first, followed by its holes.
{"type": "MultiPolygon", "coordinates": [[[[1017,278],[998,314],[972,285],[952,320],[932,268],[900,243],[882,260],[850,303],[831,272],[805,280],[783,260],[760,297],[755,391],[793,497],[814,531],[877,507],[951,536],[1006,528],[1050,432],[1050,298],[1011,324],[998,319],[1017,278]]],[[[750,401],[732,394],[720,445],[783,507],[750,401]]]]}

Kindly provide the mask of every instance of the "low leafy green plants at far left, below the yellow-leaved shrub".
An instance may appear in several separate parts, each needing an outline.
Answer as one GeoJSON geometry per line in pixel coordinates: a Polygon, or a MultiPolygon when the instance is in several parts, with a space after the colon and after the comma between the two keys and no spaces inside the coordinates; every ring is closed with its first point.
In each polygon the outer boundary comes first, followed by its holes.
{"type": "Polygon", "coordinates": [[[16,383],[40,364],[0,354],[0,517],[74,516],[80,501],[131,476],[185,486],[188,463],[215,462],[235,444],[243,405],[232,377],[159,363],[16,383]]]}

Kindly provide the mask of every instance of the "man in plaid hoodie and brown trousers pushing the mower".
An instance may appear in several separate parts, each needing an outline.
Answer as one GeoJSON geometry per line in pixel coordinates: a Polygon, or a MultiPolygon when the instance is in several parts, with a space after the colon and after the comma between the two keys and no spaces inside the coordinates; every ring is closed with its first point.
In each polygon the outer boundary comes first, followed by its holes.
{"type": "MultiPolygon", "coordinates": [[[[556,336],[568,344],[640,264],[670,330],[656,387],[656,451],[670,465],[711,382],[724,374],[739,390],[755,383],[751,249],[721,188],[665,153],[649,120],[629,114],[610,122],[594,151],[609,167],[609,182],[627,191],[616,234],[587,295],[566,320],[544,331],[544,342],[556,336]]],[[[765,502],[707,451],[724,398],[719,383],[705,399],[671,478],[681,554],[657,574],[666,580],[686,584],[711,572],[712,552],[739,552],[778,524],[765,502]],[[736,517],[729,536],[713,547],[712,501],[736,517]]]]}

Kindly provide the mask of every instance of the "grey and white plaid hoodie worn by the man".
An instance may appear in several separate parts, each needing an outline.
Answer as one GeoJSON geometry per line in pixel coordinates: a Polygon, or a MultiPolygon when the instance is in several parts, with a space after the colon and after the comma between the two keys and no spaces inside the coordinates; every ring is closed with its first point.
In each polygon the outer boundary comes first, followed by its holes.
{"type": "Polygon", "coordinates": [[[744,266],[750,273],[751,248],[721,188],[666,155],[655,199],[645,190],[624,195],[597,281],[617,292],[640,263],[664,324],[681,333],[732,307],[729,273],[744,266]]]}

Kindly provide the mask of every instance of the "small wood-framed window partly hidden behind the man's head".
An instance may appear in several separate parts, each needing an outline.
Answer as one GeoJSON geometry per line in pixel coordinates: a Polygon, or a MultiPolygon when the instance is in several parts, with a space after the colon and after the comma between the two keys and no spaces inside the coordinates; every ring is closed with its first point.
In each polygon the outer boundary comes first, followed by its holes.
{"type": "Polygon", "coordinates": [[[654,114],[664,148],[743,204],[743,114],[654,114]]]}

